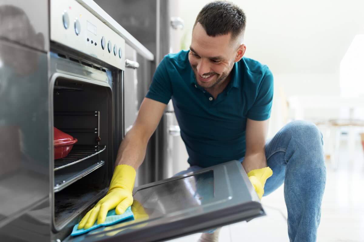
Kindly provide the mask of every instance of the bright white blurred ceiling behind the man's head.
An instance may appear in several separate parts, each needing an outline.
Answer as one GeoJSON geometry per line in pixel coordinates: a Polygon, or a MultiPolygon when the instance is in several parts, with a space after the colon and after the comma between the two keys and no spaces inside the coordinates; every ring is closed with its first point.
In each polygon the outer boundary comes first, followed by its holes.
{"type": "MultiPolygon", "coordinates": [[[[195,17],[207,2],[179,3],[188,43],[195,17]]],[[[336,73],[354,36],[364,33],[364,0],[233,2],[247,16],[246,57],[274,73],[336,73]]]]}

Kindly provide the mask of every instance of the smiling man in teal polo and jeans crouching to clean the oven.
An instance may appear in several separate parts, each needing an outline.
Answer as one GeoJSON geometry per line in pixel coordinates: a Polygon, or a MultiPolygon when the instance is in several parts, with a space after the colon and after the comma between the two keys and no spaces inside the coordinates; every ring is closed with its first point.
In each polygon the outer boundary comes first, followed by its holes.
{"type": "MultiPolygon", "coordinates": [[[[79,228],[96,219],[102,223],[109,209],[123,213],[132,204],[135,169],[172,99],[189,171],[240,160],[260,198],[284,182],[290,241],[316,241],[326,181],[322,136],[314,124],[297,121],[266,143],[273,76],[267,66],[243,58],[245,21],[244,12],[225,1],[202,8],[190,50],[165,56],[155,71],[138,118],[120,145],[110,189],[79,228]]],[[[218,230],[203,233],[200,241],[217,238],[218,230]]]]}

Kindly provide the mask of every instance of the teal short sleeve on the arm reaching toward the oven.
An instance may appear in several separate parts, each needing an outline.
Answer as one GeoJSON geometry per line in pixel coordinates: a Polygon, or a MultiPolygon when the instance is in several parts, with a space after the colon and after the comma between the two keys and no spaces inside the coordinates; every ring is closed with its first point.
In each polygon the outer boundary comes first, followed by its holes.
{"type": "Polygon", "coordinates": [[[152,83],[146,95],[147,98],[168,104],[172,97],[172,85],[168,75],[169,57],[165,56],[155,70],[152,83]]]}

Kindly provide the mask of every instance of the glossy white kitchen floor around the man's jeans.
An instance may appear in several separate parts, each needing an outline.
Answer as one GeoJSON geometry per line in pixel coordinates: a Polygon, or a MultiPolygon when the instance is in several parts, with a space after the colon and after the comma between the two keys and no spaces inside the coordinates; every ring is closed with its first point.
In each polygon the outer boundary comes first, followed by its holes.
{"type": "MultiPolygon", "coordinates": [[[[348,160],[345,141],[340,145],[339,165],[334,170],[327,162],[327,182],[323,198],[321,223],[318,227],[319,242],[364,242],[364,152],[358,142],[354,160],[348,160]]],[[[249,223],[239,222],[224,226],[219,241],[270,241],[288,242],[287,210],[283,197],[283,185],[262,204],[267,216],[249,223]]],[[[169,242],[197,241],[201,233],[169,240],[169,242]]]]}

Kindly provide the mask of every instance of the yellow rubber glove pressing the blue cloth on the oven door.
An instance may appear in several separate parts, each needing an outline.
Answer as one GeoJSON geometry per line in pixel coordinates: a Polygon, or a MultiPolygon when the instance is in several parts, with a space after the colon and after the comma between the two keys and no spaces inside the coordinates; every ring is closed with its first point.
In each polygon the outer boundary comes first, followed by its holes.
{"type": "Polygon", "coordinates": [[[135,181],[135,169],[130,165],[117,165],[112,175],[110,188],[106,194],[86,215],[78,225],[78,229],[88,229],[106,220],[107,212],[115,209],[116,214],[122,214],[133,203],[132,190],[135,181]]]}

